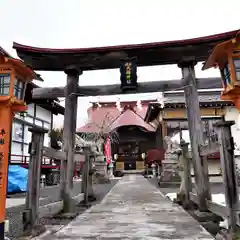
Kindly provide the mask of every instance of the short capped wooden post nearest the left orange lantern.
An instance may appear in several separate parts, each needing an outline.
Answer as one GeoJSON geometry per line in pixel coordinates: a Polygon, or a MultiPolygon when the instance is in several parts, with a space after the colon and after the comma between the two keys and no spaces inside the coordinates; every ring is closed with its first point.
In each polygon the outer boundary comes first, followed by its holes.
{"type": "Polygon", "coordinates": [[[38,127],[31,128],[29,131],[32,132],[32,141],[29,144],[28,191],[26,195],[26,211],[23,215],[25,230],[31,230],[38,224],[43,140],[44,134],[48,132],[38,127]]]}

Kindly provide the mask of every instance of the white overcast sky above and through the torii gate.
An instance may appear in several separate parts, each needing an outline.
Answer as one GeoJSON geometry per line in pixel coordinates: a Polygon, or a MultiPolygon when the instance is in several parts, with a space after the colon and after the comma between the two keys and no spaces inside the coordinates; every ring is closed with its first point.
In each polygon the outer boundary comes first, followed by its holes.
{"type": "MultiPolygon", "coordinates": [[[[0,0],[0,9],[0,45],[15,57],[13,41],[82,48],[194,38],[240,28],[239,0],[0,0]]],[[[201,72],[200,68],[199,64],[198,77],[218,76],[216,70],[201,72]]],[[[39,73],[44,78],[40,86],[65,85],[62,72],[39,73]]],[[[80,85],[119,83],[119,77],[118,69],[84,72],[80,85]]],[[[176,66],[138,68],[138,81],[180,78],[176,66]]],[[[156,94],[144,98],[156,98],[156,94]]],[[[116,101],[116,96],[99,100],[110,99],[116,101]]],[[[79,99],[78,126],[86,122],[92,100],[96,98],[79,99]]],[[[57,125],[61,124],[57,118],[57,125]]]]}

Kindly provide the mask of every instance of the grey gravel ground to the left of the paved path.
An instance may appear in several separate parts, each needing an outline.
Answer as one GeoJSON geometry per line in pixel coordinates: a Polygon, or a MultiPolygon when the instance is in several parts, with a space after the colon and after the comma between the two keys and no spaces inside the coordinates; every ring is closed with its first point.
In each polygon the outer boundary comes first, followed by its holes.
{"type": "MultiPolygon", "coordinates": [[[[118,180],[113,179],[109,184],[95,184],[93,185],[94,193],[96,195],[97,200],[91,202],[92,205],[98,204],[102,201],[104,196],[111,190],[111,188],[117,183],[118,180]]],[[[74,183],[74,195],[77,195],[81,192],[81,182],[74,183]]],[[[51,202],[55,202],[59,200],[59,187],[51,187],[51,188],[44,188],[41,191],[41,197],[49,197],[47,199],[43,199],[40,201],[40,205],[49,204],[51,202]]],[[[22,197],[22,196],[21,196],[22,197]]],[[[13,208],[9,208],[7,210],[7,218],[10,220],[10,231],[7,235],[11,240],[18,239],[19,236],[22,234],[23,225],[22,225],[22,212],[24,210],[24,205],[17,206],[13,208]]],[[[76,207],[75,211],[78,214],[83,213],[86,208],[83,207],[76,207]]],[[[53,217],[46,217],[40,219],[40,222],[44,225],[66,225],[70,222],[70,219],[59,219],[53,217]]]]}

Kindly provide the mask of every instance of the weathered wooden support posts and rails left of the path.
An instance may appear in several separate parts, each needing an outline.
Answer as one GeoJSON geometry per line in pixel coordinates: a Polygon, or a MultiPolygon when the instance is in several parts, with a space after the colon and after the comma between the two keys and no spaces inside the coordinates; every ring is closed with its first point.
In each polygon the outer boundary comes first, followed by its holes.
{"type": "MultiPolygon", "coordinates": [[[[41,160],[43,157],[47,157],[49,159],[60,160],[61,161],[61,170],[60,170],[60,196],[62,200],[62,209],[64,210],[64,205],[69,205],[72,203],[72,198],[66,198],[64,195],[66,184],[68,183],[67,178],[73,179],[74,171],[73,169],[68,169],[68,171],[62,171],[63,168],[67,166],[67,157],[66,153],[63,151],[57,151],[52,148],[43,146],[44,134],[45,130],[34,127],[29,129],[32,132],[32,141],[29,144],[29,170],[28,170],[28,191],[26,195],[26,206],[23,214],[23,223],[25,231],[32,231],[36,226],[38,226],[38,221],[40,218],[39,212],[39,199],[40,199],[40,172],[41,172],[41,160]],[[67,174],[66,174],[67,173],[67,174]],[[67,175],[67,176],[66,176],[67,175]]],[[[75,151],[75,150],[74,150],[75,151]]],[[[89,183],[89,162],[93,161],[94,155],[91,154],[90,148],[85,148],[82,153],[74,152],[74,160],[79,162],[79,159],[83,159],[79,157],[80,155],[84,155],[84,159],[87,160],[84,164],[85,174],[83,177],[82,185],[83,194],[85,203],[88,201],[88,193],[91,190],[91,182],[89,183]],[[90,190],[89,190],[90,189],[90,190]]],[[[81,160],[82,161],[82,160],[81,160]]],[[[71,187],[70,187],[71,189],[71,187]]],[[[70,194],[71,195],[71,194],[70,194]]],[[[68,206],[69,209],[69,206],[68,206]]]]}

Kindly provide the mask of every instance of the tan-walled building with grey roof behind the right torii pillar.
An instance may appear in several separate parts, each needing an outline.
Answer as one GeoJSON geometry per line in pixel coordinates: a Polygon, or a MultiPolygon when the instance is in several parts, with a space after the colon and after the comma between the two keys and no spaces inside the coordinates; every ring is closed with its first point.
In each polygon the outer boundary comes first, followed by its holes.
{"type": "MultiPolygon", "coordinates": [[[[235,144],[235,156],[240,155],[240,114],[232,101],[221,100],[221,90],[201,90],[198,91],[200,113],[202,119],[203,136],[206,144],[210,141],[208,137],[214,135],[213,124],[218,122],[223,116],[226,120],[233,120],[236,123],[231,127],[235,144]]],[[[164,93],[164,107],[158,102],[150,103],[146,111],[145,119],[157,129],[158,146],[161,148],[165,136],[173,137],[180,142],[183,138],[190,142],[189,136],[183,134],[188,131],[187,111],[185,107],[185,97],[183,91],[171,91],[164,93]]],[[[189,146],[190,149],[190,146],[189,146]]],[[[208,170],[210,175],[218,175],[220,169],[219,152],[210,154],[208,158],[208,170]]],[[[193,169],[192,169],[193,174],[193,169]]]]}

